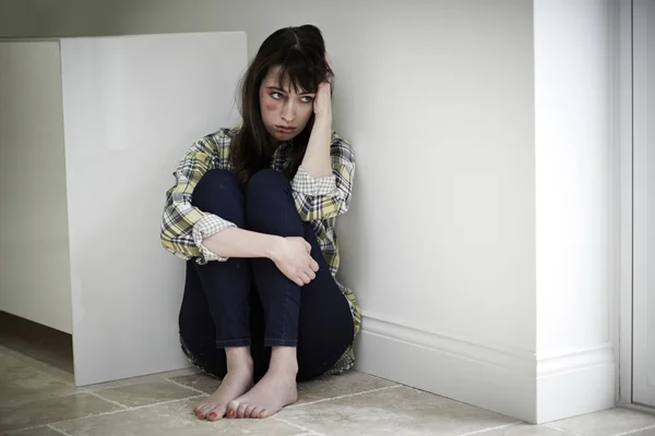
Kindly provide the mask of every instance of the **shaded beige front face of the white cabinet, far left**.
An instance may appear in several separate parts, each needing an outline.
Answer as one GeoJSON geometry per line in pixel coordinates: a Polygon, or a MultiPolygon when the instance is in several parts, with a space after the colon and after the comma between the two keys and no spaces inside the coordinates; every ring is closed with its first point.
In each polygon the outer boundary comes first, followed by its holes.
{"type": "Polygon", "coordinates": [[[59,44],[0,43],[0,311],[70,334],[59,44]]]}

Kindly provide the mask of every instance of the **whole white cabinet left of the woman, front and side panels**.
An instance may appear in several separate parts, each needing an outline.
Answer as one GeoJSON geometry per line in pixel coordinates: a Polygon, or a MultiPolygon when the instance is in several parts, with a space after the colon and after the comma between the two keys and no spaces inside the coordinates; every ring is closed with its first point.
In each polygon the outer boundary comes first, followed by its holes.
{"type": "Polygon", "coordinates": [[[246,63],[243,33],[0,43],[0,310],[72,334],[78,385],[188,366],[165,192],[246,63]]]}

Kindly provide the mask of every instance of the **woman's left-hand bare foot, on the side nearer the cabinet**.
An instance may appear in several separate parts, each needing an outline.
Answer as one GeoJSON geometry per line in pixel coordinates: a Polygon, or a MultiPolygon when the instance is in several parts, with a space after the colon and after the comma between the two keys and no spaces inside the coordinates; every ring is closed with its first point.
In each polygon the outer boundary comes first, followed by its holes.
{"type": "Polygon", "coordinates": [[[225,416],[229,402],[252,386],[250,349],[247,347],[226,349],[226,354],[228,360],[227,374],[221,382],[221,386],[193,409],[195,415],[201,420],[221,420],[225,416]],[[234,355],[230,356],[230,353],[234,355]]]}

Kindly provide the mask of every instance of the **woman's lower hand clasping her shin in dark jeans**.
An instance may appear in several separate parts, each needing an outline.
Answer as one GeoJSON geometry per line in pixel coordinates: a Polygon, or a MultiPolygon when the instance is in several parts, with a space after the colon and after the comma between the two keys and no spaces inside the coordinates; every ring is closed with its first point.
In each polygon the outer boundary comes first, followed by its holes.
{"type": "Polygon", "coordinates": [[[302,238],[279,238],[271,259],[289,280],[303,286],[313,280],[319,264],[311,257],[311,245],[302,238]]]}

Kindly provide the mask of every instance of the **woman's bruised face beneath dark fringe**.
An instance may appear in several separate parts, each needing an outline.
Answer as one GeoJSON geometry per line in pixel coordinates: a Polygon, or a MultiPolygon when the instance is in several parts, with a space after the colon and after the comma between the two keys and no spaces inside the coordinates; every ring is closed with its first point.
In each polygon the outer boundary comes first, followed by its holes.
{"type": "Polygon", "coordinates": [[[288,78],[276,83],[279,66],[272,66],[260,86],[262,121],[273,138],[284,142],[296,137],[313,112],[314,93],[296,94],[288,78]]]}

